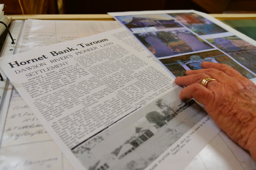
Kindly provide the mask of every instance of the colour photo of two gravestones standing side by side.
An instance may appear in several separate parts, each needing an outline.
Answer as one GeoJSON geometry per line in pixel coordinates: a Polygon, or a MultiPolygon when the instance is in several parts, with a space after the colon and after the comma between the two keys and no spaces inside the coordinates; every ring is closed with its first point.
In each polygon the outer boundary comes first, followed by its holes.
{"type": "Polygon", "coordinates": [[[134,35],[156,57],[173,56],[213,48],[186,29],[135,33],[134,35]]]}

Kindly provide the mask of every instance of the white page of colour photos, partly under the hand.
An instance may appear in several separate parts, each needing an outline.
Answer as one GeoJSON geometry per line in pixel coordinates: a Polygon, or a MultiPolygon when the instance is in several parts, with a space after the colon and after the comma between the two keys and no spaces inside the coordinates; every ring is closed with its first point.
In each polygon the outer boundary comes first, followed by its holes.
{"type": "Polygon", "coordinates": [[[201,62],[227,64],[255,82],[256,41],[195,10],[109,13],[174,77],[201,62]]]}

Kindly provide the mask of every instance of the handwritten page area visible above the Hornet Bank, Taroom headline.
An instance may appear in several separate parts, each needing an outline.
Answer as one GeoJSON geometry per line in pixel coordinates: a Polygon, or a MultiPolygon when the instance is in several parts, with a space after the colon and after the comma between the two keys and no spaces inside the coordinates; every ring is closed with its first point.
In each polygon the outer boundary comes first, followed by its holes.
{"type": "Polygon", "coordinates": [[[116,21],[26,20],[17,51],[28,51],[120,27],[116,21]]]}

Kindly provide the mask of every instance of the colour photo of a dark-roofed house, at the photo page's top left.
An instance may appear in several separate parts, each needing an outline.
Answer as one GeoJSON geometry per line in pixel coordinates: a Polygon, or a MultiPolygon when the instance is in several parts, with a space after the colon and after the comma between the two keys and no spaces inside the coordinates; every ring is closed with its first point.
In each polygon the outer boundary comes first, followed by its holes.
{"type": "Polygon", "coordinates": [[[180,23],[173,20],[167,14],[149,14],[149,15],[130,15],[116,17],[122,24],[124,24],[131,32],[147,31],[147,29],[138,29],[153,27],[153,30],[161,30],[166,28],[183,27],[180,23]],[[154,29],[155,28],[155,29],[154,29]]]}

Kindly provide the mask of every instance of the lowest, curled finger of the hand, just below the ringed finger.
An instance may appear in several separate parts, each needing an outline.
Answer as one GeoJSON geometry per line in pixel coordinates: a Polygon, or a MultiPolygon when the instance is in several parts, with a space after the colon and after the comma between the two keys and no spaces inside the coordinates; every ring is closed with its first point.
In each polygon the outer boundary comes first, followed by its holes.
{"type": "Polygon", "coordinates": [[[214,99],[214,93],[204,86],[194,83],[182,89],[179,97],[181,100],[194,98],[199,103],[208,105],[210,103],[209,100],[214,99]]]}

